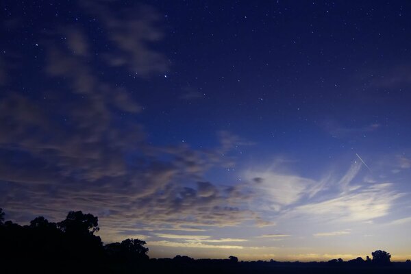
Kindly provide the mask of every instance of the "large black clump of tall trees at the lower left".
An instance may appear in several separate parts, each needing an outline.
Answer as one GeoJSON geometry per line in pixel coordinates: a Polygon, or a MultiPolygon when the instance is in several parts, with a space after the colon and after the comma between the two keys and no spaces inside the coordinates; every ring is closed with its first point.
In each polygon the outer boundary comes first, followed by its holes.
{"type": "Polygon", "coordinates": [[[58,273],[76,269],[114,273],[115,268],[107,267],[135,269],[149,260],[149,249],[142,240],[129,238],[103,245],[95,235],[99,231],[98,218],[92,214],[71,211],[58,223],[38,216],[23,226],[4,221],[4,216],[0,208],[0,258],[1,262],[7,262],[1,267],[10,273],[27,270],[27,263],[40,263],[42,272],[47,271],[46,266],[51,269],[64,266],[58,273]]]}

